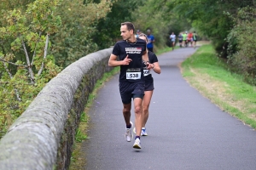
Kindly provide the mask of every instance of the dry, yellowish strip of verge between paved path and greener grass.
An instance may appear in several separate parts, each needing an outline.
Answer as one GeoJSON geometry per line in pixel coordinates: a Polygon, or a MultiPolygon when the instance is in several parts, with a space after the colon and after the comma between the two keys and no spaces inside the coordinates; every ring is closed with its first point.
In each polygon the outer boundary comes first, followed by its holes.
{"type": "MultiPolygon", "coordinates": [[[[183,74],[181,63],[178,65],[183,74]]],[[[244,124],[252,125],[256,122],[256,103],[249,99],[237,98],[236,94],[229,92],[229,84],[221,82],[216,78],[209,76],[200,69],[189,67],[192,77],[183,77],[189,85],[199,91],[201,95],[210,99],[222,111],[228,112],[232,116],[236,116],[244,124]],[[254,111],[252,113],[252,111],[254,111]]],[[[256,89],[254,88],[256,92],[256,89]]],[[[254,127],[255,128],[255,127],[254,127]]]]}

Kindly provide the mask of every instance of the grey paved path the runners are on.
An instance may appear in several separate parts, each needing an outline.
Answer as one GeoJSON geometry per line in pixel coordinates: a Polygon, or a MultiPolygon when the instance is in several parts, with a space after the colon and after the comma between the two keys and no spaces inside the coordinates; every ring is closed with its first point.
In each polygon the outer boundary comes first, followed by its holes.
{"type": "Polygon", "coordinates": [[[84,169],[256,169],[256,132],[221,111],[181,76],[177,64],[194,52],[182,48],[158,56],[161,74],[153,75],[155,90],[142,150],[132,148],[134,140],[125,141],[118,75],[105,84],[90,111],[84,169]]]}

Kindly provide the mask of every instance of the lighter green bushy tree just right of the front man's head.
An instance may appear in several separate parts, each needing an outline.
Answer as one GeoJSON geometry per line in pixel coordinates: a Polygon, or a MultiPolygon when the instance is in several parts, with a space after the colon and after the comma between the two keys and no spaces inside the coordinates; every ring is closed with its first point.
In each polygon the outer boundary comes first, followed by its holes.
{"type": "Polygon", "coordinates": [[[134,22],[137,29],[146,33],[151,30],[155,38],[155,49],[165,48],[170,45],[169,37],[174,31],[176,35],[180,31],[189,30],[191,25],[183,18],[174,13],[172,1],[166,0],[148,0],[143,1],[143,5],[138,6],[133,17],[137,20],[134,22]],[[158,11],[157,13],[155,11],[158,11]]]}

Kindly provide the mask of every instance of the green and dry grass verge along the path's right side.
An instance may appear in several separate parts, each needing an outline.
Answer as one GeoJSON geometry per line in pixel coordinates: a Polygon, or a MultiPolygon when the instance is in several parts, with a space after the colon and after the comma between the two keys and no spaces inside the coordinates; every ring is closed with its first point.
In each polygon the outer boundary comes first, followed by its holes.
{"type": "Polygon", "coordinates": [[[211,44],[203,45],[186,59],[181,70],[186,81],[212,103],[256,128],[256,87],[231,73],[211,44]]]}

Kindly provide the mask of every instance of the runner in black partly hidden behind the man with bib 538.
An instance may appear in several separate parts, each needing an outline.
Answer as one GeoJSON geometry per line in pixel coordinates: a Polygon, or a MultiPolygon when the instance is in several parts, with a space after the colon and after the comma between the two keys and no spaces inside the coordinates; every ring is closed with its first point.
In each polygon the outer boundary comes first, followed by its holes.
{"type": "MultiPolygon", "coordinates": [[[[145,42],[148,42],[147,35],[145,34],[140,34],[139,38],[143,39],[145,42]]],[[[155,73],[160,74],[161,72],[160,65],[158,63],[158,59],[156,55],[153,52],[148,51],[148,49],[147,49],[147,54],[144,54],[144,55],[148,55],[148,59],[149,59],[149,62],[151,63],[150,65],[152,66],[153,71],[155,73]]],[[[142,128],[141,135],[148,136],[148,133],[146,132],[146,123],[148,121],[148,115],[149,115],[148,108],[149,108],[150,101],[154,91],[154,79],[150,73],[150,70],[146,68],[146,65],[144,65],[144,80],[145,80],[145,92],[144,92],[145,95],[143,98],[143,128],[142,128]]]]}

